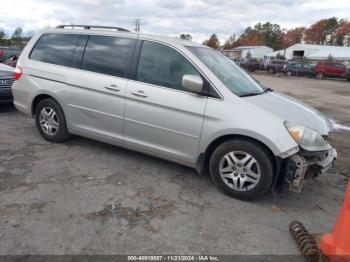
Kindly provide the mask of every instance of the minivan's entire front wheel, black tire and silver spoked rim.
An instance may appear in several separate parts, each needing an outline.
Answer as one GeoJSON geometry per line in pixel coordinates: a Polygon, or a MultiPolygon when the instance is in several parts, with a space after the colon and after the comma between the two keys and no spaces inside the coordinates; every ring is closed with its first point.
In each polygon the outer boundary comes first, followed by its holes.
{"type": "Polygon", "coordinates": [[[258,143],[235,139],[218,146],[209,162],[214,184],[228,195],[254,200],[264,195],[273,182],[273,161],[258,143]]]}

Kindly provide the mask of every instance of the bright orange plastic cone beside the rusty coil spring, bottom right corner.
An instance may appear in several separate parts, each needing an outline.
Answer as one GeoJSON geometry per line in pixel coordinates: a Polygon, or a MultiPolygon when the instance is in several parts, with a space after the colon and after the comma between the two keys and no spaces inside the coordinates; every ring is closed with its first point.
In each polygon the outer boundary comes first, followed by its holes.
{"type": "Polygon", "coordinates": [[[333,232],[321,239],[321,250],[332,262],[350,262],[350,182],[333,232]]]}

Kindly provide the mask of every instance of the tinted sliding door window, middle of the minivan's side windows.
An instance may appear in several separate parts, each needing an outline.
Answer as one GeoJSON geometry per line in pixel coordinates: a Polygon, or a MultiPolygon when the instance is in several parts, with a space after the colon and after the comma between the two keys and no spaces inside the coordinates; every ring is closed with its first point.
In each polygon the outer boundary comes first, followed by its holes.
{"type": "Polygon", "coordinates": [[[90,36],[86,45],[82,69],[106,75],[124,77],[135,40],[111,36],[90,36]]]}

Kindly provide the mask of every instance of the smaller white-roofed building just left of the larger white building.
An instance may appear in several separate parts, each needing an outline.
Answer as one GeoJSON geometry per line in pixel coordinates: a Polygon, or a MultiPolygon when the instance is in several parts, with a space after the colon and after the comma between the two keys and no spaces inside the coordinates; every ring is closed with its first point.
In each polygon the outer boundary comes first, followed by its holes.
{"type": "Polygon", "coordinates": [[[232,49],[221,50],[229,58],[246,58],[249,54],[252,58],[263,58],[273,49],[267,46],[239,46],[232,49]]]}

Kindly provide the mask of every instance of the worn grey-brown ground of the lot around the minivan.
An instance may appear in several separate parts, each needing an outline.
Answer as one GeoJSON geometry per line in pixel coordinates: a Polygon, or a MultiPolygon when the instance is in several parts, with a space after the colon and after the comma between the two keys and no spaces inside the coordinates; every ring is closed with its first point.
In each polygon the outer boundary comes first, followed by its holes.
{"type": "MultiPolygon", "coordinates": [[[[350,125],[350,83],[256,77],[350,125]]],[[[80,137],[50,144],[32,119],[2,106],[0,254],[298,254],[291,220],[332,229],[349,135],[332,134],[339,161],[301,194],[246,203],[177,164],[80,137]]]]}

